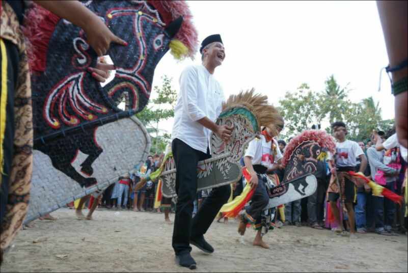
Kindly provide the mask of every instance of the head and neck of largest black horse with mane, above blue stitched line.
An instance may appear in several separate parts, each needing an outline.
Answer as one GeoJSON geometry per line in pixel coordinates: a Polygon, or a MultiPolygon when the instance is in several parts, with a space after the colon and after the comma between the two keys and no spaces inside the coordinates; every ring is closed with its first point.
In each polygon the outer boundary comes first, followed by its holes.
{"type": "Polygon", "coordinates": [[[31,10],[26,35],[33,49],[30,64],[37,141],[55,136],[56,131],[69,134],[78,126],[101,124],[100,119],[113,121],[114,114],[122,118],[140,112],[150,97],[154,69],[169,48],[176,51],[181,46],[178,58],[194,56],[197,33],[184,2],[86,1],[84,5],[128,46],[111,45],[107,54],[116,76],[101,87],[87,72],[95,66],[97,56],[84,31],[39,6],[31,10]],[[123,98],[128,102],[127,114],[117,108],[123,98]]]}

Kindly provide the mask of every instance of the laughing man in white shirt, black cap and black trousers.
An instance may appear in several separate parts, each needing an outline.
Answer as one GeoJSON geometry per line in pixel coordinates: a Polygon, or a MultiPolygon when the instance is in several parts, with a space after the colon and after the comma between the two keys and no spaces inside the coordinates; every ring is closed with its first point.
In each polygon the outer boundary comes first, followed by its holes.
{"type": "Polygon", "coordinates": [[[205,38],[200,52],[202,64],[187,67],[180,76],[172,132],[178,196],[172,245],[177,262],[190,269],[197,266],[190,255],[190,243],[206,253],[214,251],[203,235],[231,192],[230,185],[213,188],[192,219],[193,202],[197,196],[197,163],[211,157],[210,131],[228,142],[233,129],[214,123],[224,101],[222,88],[213,76],[215,67],[220,66],[225,58],[221,36],[216,34],[205,38]]]}

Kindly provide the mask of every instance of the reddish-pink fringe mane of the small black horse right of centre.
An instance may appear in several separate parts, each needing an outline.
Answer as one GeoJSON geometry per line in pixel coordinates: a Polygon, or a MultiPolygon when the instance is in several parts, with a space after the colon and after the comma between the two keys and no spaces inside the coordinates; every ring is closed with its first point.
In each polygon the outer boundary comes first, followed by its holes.
{"type": "Polygon", "coordinates": [[[333,137],[327,132],[322,130],[306,130],[293,138],[286,146],[282,159],[282,165],[284,167],[289,162],[294,150],[305,141],[315,141],[320,147],[328,149],[332,154],[336,152],[336,143],[334,142],[333,137]]]}

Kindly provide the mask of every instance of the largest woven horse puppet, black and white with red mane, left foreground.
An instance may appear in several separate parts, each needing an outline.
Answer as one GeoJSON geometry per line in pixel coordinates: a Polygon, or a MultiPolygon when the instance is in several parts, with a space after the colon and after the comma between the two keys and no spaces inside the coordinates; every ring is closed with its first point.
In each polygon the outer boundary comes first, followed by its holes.
{"type": "Polygon", "coordinates": [[[38,6],[30,11],[35,159],[28,220],[105,188],[145,160],[150,139],[134,114],[148,103],[154,69],[169,48],[179,59],[196,51],[183,1],[83,4],[128,46],[111,45],[116,75],[101,87],[87,72],[97,56],[84,31],[38,6]],[[117,107],[124,98],[126,111],[117,107]],[[35,197],[46,205],[35,207],[35,197]]]}

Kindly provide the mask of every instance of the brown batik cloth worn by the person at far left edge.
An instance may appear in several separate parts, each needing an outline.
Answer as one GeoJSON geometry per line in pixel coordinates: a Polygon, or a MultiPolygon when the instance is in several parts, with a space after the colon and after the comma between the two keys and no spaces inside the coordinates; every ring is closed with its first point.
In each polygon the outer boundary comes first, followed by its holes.
{"type": "Polygon", "coordinates": [[[16,14],[5,1],[2,1],[1,18],[1,39],[16,45],[19,52],[16,87],[8,90],[8,95],[14,96],[15,134],[11,171],[10,174],[7,174],[9,175],[8,202],[6,211],[4,214],[2,212],[4,219],[1,227],[0,248],[3,251],[21,229],[28,209],[33,170],[33,111],[24,37],[16,14]]]}

